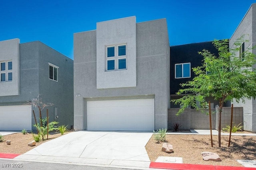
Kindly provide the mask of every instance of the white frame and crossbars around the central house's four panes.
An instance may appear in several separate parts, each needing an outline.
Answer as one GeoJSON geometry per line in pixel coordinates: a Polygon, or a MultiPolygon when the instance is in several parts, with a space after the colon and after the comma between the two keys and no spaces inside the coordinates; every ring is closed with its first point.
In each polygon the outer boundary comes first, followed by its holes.
{"type": "Polygon", "coordinates": [[[106,46],[106,71],[116,71],[116,70],[127,70],[127,44],[118,44],[118,45],[109,45],[109,46],[106,46]],[[123,46],[123,45],[125,45],[125,55],[120,55],[119,56],[119,54],[118,54],[118,47],[119,46],[123,46]],[[108,47],[114,47],[115,49],[114,49],[114,57],[108,57],[108,47]],[[126,64],[126,68],[122,68],[122,69],[119,69],[118,67],[119,67],[119,59],[126,59],[126,62],[125,62],[125,64],[126,64]],[[114,60],[114,63],[115,63],[115,68],[114,68],[114,70],[108,70],[108,61],[109,60],[114,60]]]}

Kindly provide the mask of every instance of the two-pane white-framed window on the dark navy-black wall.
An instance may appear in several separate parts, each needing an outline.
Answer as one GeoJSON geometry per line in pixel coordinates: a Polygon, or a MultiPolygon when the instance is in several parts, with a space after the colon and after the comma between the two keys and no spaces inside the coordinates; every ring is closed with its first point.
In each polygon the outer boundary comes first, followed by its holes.
{"type": "Polygon", "coordinates": [[[175,78],[190,78],[190,63],[175,64],[175,78]]]}

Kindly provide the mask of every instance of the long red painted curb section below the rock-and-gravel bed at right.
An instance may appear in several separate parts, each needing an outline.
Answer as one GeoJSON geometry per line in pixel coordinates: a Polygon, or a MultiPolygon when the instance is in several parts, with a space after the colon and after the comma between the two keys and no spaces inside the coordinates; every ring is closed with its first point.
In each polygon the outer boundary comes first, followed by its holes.
{"type": "Polygon", "coordinates": [[[151,162],[149,168],[172,169],[172,170],[256,170],[256,168],[238,167],[238,166],[215,166],[201,164],[179,164],[151,162]]]}

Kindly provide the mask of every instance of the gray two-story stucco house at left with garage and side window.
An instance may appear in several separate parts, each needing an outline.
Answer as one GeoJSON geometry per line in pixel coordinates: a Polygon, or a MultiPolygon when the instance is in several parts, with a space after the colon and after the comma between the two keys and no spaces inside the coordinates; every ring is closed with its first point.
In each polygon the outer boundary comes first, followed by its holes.
{"type": "Polygon", "coordinates": [[[40,41],[0,41],[0,130],[35,129],[38,108],[26,104],[38,94],[54,104],[46,107],[49,121],[73,125],[73,61],[40,41]]]}

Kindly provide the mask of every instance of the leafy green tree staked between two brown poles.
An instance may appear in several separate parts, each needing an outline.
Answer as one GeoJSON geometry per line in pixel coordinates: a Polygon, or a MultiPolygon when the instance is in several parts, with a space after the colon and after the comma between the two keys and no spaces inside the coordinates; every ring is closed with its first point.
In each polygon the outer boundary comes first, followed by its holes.
{"type": "Polygon", "coordinates": [[[256,63],[255,55],[246,49],[242,54],[243,58],[238,57],[240,46],[244,42],[244,37],[237,39],[234,47],[229,50],[228,39],[213,42],[218,49],[219,56],[215,56],[208,50],[199,52],[204,59],[202,66],[192,68],[195,77],[192,81],[181,84],[185,89],[180,89],[177,94],[194,94],[183,96],[180,99],[172,100],[175,104],[182,104],[182,108],[177,115],[184,112],[189,104],[199,108],[196,101],[200,103],[201,108],[207,108],[206,97],[213,97],[220,101],[219,106],[219,126],[218,126],[218,144],[221,141],[221,114],[224,102],[236,100],[244,103],[244,100],[256,97],[256,74],[252,66],[256,63]]]}

